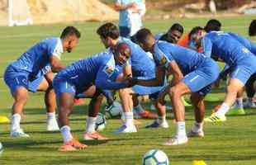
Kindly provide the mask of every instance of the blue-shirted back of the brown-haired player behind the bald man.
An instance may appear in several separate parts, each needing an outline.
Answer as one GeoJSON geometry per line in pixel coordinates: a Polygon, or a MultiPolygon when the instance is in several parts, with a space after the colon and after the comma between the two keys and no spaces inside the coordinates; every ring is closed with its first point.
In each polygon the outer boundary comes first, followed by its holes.
{"type": "Polygon", "coordinates": [[[148,74],[154,74],[154,61],[149,58],[149,55],[136,45],[134,42],[121,38],[121,41],[130,46],[130,62],[132,68],[132,74],[135,77],[148,76],[148,74]]]}

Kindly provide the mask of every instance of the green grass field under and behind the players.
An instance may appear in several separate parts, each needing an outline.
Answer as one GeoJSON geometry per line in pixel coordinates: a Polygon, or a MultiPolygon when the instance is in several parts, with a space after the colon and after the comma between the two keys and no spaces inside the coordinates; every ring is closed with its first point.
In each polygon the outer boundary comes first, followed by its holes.
{"type": "MultiPolygon", "coordinates": [[[[224,31],[234,31],[247,36],[249,22],[255,16],[220,17],[224,31]]],[[[207,18],[190,18],[182,20],[147,21],[145,26],[155,33],[166,31],[173,22],[179,21],[190,31],[193,26],[204,26],[207,18]]],[[[95,31],[100,23],[75,23],[82,38],[72,54],[63,54],[63,61],[70,64],[75,60],[88,57],[104,50],[95,31]]],[[[19,26],[0,27],[0,115],[8,115],[12,107],[12,97],[2,80],[5,67],[36,41],[49,36],[58,36],[67,26],[58,24],[52,26],[19,26]]],[[[252,38],[252,40],[254,40],[252,38]]],[[[255,40],[254,40],[255,41],[255,40]]],[[[224,98],[225,87],[214,90],[206,97],[206,114],[211,114],[211,108],[224,98]]],[[[87,101],[88,102],[88,101],[87,101]]],[[[149,102],[145,103],[149,106],[149,102]]],[[[208,165],[250,165],[256,164],[256,110],[246,109],[246,115],[229,117],[225,123],[205,124],[204,139],[190,139],[181,146],[166,147],[162,144],[175,130],[175,125],[169,120],[168,130],[146,130],[145,124],[151,120],[140,120],[137,134],[112,134],[120,126],[119,120],[107,120],[107,129],[102,134],[110,138],[108,141],[83,141],[83,131],[87,117],[87,105],[76,106],[71,116],[73,134],[81,139],[88,148],[73,153],[58,152],[62,144],[59,132],[45,131],[45,106],[43,93],[31,94],[26,108],[26,120],[21,127],[31,135],[30,139],[13,139],[9,136],[9,125],[0,125],[0,141],[4,152],[0,164],[140,164],[141,158],[149,149],[159,148],[168,154],[172,165],[190,165],[192,160],[205,160],[208,165]]],[[[192,126],[192,108],[186,109],[187,129],[192,126]]]]}

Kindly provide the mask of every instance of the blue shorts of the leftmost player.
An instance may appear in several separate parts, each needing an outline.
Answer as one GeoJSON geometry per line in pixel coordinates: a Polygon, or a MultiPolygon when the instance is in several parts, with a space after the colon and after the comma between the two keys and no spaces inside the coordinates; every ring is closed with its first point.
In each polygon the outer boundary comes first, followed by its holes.
{"type": "Polygon", "coordinates": [[[44,76],[40,76],[38,78],[34,78],[33,80],[29,80],[30,73],[13,68],[12,66],[8,66],[4,73],[4,81],[9,87],[11,93],[16,92],[17,88],[25,87],[30,92],[36,92],[36,89],[39,87],[40,82],[45,78],[44,76]]]}

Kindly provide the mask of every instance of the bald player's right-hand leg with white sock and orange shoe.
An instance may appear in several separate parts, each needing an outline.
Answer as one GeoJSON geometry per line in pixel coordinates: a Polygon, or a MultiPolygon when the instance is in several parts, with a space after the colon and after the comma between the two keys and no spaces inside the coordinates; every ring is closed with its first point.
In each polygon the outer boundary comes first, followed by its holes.
{"type": "Polygon", "coordinates": [[[95,86],[89,87],[86,92],[83,92],[84,96],[86,97],[92,97],[90,103],[89,103],[89,111],[88,111],[88,119],[86,121],[86,129],[85,133],[83,134],[83,139],[107,139],[106,137],[102,136],[101,134],[98,134],[95,130],[96,120],[97,120],[97,114],[101,109],[102,106],[102,100],[103,95],[102,92],[96,89],[95,86]]]}

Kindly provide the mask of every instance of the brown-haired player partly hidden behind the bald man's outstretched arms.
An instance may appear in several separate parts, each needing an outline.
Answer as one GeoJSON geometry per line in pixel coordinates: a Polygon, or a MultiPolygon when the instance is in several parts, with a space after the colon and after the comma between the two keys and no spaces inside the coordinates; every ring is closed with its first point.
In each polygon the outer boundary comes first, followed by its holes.
{"type": "MultiPolygon", "coordinates": [[[[130,64],[126,65],[125,76],[132,76],[135,78],[154,78],[154,62],[149,59],[148,54],[132,41],[119,37],[118,28],[113,23],[106,23],[97,29],[97,34],[100,36],[103,45],[106,48],[113,48],[119,42],[125,42],[130,46],[130,64]]],[[[134,86],[130,88],[121,89],[119,95],[121,97],[121,104],[124,111],[125,124],[121,126],[116,133],[132,133],[136,132],[136,127],[133,121],[133,101],[130,93],[138,95],[149,95],[158,92],[162,87],[141,87],[134,86]]]]}

